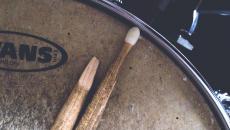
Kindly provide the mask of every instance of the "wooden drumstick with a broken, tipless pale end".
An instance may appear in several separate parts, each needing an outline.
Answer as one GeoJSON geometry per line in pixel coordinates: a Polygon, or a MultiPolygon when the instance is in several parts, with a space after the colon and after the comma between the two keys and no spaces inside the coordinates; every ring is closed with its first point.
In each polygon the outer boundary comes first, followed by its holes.
{"type": "Polygon", "coordinates": [[[90,90],[99,61],[93,57],[58,114],[51,130],[72,130],[84,99],[90,90]]]}

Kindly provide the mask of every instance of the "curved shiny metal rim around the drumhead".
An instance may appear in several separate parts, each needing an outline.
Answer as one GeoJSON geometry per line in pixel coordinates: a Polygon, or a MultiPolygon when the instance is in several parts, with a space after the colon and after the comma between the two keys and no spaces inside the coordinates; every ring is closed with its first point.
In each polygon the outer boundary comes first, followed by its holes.
{"type": "Polygon", "coordinates": [[[211,110],[217,117],[217,121],[224,129],[230,129],[230,117],[221,105],[220,101],[214,95],[214,90],[210,84],[205,80],[201,73],[195,68],[195,66],[183,55],[169,40],[163,35],[157,32],[154,28],[149,26],[147,23],[136,17],[134,14],[127,10],[109,2],[108,0],[84,0],[83,2],[93,5],[97,8],[112,13],[116,17],[122,18],[122,20],[128,21],[129,23],[138,26],[141,31],[149,38],[153,43],[160,46],[161,50],[165,51],[166,54],[178,64],[178,66],[186,73],[187,76],[196,84],[196,88],[199,93],[206,99],[211,110]]]}

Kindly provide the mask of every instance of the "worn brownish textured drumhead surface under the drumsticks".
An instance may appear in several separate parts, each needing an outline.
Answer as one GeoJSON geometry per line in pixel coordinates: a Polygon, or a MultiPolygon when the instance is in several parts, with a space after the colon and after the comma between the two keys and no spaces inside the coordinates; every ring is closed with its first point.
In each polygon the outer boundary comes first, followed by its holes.
{"type": "MultiPolygon", "coordinates": [[[[48,39],[68,55],[63,65],[53,69],[0,70],[0,129],[49,129],[90,58],[96,56],[101,61],[97,85],[119,52],[129,28],[108,14],[72,0],[1,0],[0,16],[1,30],[48,39]]],[[[48,45],[28,39],[23,40],[40,48],[48,45]]],[[[10,34],[0,34],[0,40],[23,42],[10,34]]],[[[20,47],[14,45],[19,55],[20,47]]],[[[4,43],[0,53],[3,46],[4,43]]],[[[24,62],[22,68],[42,66],[24,62]]],[[[219,128],[189,79],[156,46],[142,38],[121,69],[98,129],[219,128]]]]}

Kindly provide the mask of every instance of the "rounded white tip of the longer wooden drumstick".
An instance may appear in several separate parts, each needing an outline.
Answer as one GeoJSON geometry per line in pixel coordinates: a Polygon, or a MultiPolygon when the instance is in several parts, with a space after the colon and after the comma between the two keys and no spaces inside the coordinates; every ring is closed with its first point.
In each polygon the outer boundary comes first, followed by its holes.
{"type": "Polygon", "coordinates": [[[138,27],[132,27],[126,37],[125,37],[125,42],[129,43],[131,45],[135,45],[137,43],[137,40],[140,37],[140,29],[138,27]]]}

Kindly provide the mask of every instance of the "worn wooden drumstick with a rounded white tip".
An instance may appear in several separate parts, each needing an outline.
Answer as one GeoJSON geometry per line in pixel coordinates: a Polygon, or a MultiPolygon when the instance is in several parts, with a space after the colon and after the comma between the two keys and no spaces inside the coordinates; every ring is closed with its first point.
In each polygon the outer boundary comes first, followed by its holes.
{"type": "Polygon", "coordinates": [[[107,71],[104,80],[101,82],[76,130],[95,130],[97,128],[108,99],[117,81],[119,69],[130,49],[136,44],[139,36],[140,30],[137,27],[133,27],[128,31],[120,54],[107,71]]]}

